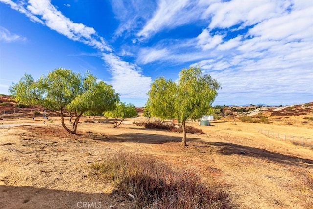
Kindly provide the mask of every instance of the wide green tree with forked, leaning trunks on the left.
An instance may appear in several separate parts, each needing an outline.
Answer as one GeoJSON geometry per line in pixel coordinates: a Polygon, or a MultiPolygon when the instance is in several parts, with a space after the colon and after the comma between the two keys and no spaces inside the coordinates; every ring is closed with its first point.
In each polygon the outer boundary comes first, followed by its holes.
{"type": "Polygon", "coordinates": [[[59,113],[62,127],[72,134],[76,134],[79,119],[85,112],[112,110],[119,101],[119,94],[115,93],[112,85],[97,82],[89,72],[81,76],[63,68],[43,75],[38,80],[26,74],[9,91],[17,102],[40,105],[59,113]],[[75,117],[71,128],[67,128],[64,123],[67,111],[75,117]]]}

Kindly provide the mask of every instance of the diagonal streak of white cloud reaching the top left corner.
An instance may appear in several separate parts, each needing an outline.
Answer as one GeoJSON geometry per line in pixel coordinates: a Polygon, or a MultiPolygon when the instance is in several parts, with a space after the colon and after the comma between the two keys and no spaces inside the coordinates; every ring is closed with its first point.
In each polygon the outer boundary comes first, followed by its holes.
{"type": "Polygon", "coordinates": [[[112,47],[92,27],[82,23],[74,23],[57,10],[50,0],[29,0],[27,3],[24,1],[15,3],[12,0],[0,1],[9,4],[12,9],[25,14],[32,21],[44,24],[69,39],[82,42],[101,51],[112,51],[112,47]]]}

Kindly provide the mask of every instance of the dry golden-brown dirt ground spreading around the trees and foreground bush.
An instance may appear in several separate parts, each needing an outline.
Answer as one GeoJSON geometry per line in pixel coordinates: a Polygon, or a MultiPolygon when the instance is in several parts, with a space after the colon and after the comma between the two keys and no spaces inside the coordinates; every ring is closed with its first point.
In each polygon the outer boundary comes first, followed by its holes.
{"type": "Polygon", "coordinates": [[[79,208],[83,202],[94,208],[129,208],[127,197],[88,175],[90,163],[120,151],[194,171],[207,186],[228,191],[240,209],[313,208],[312,190],[302,187],[301,180],[313,175],[312,148],[260,133],[268,129],[313,138],[312,121],[301,124],[304,116],[285,118],[291,121],[275,117],[271,124],[241,123],[236,118],[207,127],[190,123],[205,134],[187,134],[187,147],[180,145],[181,134],[145,129],[132,124],[134,119],[113,128],[84,123],[90,118],[82,118],[78,135],[71,135],[57,117],[49,117],[45,125],[41,118],[5,118],[1,124],[41,126],[0,129],[0,208],[79,208]],[[293,125],[286,125],[290,122],[293,125]]]}

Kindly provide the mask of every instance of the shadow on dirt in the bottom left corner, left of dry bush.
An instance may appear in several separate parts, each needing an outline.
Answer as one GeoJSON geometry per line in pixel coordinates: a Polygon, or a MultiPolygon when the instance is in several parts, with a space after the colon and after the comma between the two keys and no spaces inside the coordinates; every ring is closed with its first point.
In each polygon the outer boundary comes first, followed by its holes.
{"type": "Polygon", "coordinates": [[[111,194],[0,185],[0,208],[3,209],[118,209],[121,203],[117,201],[111,194]]]}

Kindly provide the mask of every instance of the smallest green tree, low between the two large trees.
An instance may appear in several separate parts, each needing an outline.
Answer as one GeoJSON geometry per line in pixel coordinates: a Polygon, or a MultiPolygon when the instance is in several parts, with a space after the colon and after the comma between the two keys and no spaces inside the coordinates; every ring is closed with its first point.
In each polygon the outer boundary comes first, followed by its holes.
{"type": "Polygon", "coordinates": [[[137,116],[137,111],[134,105],[119,102],[115,109],[112,111],[105,111],[104,115],[107,117],[113,117],[115,120],[114,128],[119,126],[126,118],[137,116]],[[120,123],[117,122],[118,118],[121,118],[120,123]]]}

